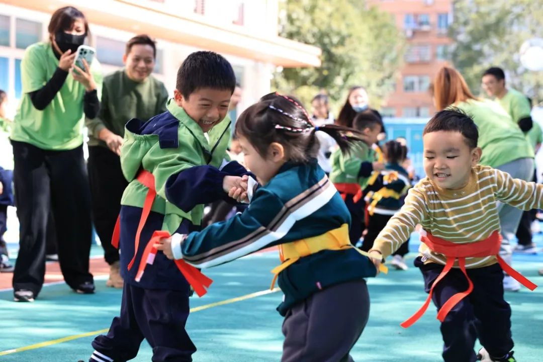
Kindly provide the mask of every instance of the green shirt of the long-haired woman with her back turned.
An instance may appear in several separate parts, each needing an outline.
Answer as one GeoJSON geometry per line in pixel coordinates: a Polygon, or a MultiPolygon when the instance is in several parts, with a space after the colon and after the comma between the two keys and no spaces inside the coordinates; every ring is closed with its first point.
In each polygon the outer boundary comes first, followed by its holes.
{"type": "Polygon", "coordinates": [[[454,106],[468,113],[479,129],[481,164],[497,168],[519,158],[534,157],[534,150],[519,126],[495,101],[470,99],[454,106]]]}

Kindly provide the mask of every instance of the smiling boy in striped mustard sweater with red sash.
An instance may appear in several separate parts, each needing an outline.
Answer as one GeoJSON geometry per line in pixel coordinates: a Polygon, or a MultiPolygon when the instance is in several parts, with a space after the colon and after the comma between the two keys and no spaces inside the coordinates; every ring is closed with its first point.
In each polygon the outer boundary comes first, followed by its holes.
{"type": "MultiPolygon", "coordinates": [[[[502,269],[529,289],[536,285],[498,256],[496,201],[524,210],[541,208],[543,185],[478,165],[482,152],[477,126],[461,111],[438,112],[422,135],[427,177],[409,190],[405,205],[377,236],[370,255],[386,258],[421,224],[415,266],[429,295],[402,327],[411,326],[433,300],[439,309],[446,362],[515,362],[502,269]],[[476,355],[477,337],[483,348],[476,355]]],[[[379,259],[372,261],[380,264],[379,259]]]]}

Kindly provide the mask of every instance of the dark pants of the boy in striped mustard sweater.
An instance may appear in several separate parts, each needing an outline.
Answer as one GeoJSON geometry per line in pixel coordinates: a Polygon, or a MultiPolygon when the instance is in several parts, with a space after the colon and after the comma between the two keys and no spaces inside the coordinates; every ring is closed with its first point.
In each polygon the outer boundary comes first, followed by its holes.
{"type": "MultiPolygon", "coordinates": [[[[424,264],[415,259],[424,277],[426,293],[443,270],[443,265],[424,264]]],[[[501,357],[513,348],[511,307],[503,299],[503,271],[494,264],[468,269],[473,291],[447,314],[441,323],[445,343],[445,362],[475,362],[473,345],[477,337],[493,357],[501,357]]],[[[468,281],[460,269],[453,268],[433,290],[432,300],[439,309],[454,294],[468,289],[468,281]]]]}

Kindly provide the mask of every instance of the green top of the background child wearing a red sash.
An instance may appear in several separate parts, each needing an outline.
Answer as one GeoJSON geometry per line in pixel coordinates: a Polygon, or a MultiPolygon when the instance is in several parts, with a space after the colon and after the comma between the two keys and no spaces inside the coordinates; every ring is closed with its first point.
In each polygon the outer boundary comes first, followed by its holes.
{"type": "Polygon", "coordinates": [[[330,157],[332,171],[330,181],[333,183],[358,183],[362,188],[368,185],[369,177],[360,177],[362,162],[374,162],[375,151],[364,142],[356,142],[351,146],[351,152],[344,155],[338,148],[330,157]]]}

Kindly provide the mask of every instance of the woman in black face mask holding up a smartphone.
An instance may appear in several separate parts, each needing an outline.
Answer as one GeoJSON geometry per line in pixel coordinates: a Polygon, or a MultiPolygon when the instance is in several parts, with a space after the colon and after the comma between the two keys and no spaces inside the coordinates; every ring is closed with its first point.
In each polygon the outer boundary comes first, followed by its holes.
{"type": "Polygon", "coordinates": [[[75,53],[89,35],[73,7],[54,12],[49,41],[29,46],[21,62],[23,95],[11,131],[20,249],[13,275],[14,300],[31,302],[45,276],[49,209],[53,211],[60,269],[77,293],[94,293],[89,272],[90,191],[83,158],[83,120],[99,110],[99,63],[85,69],[75,53]]]}

